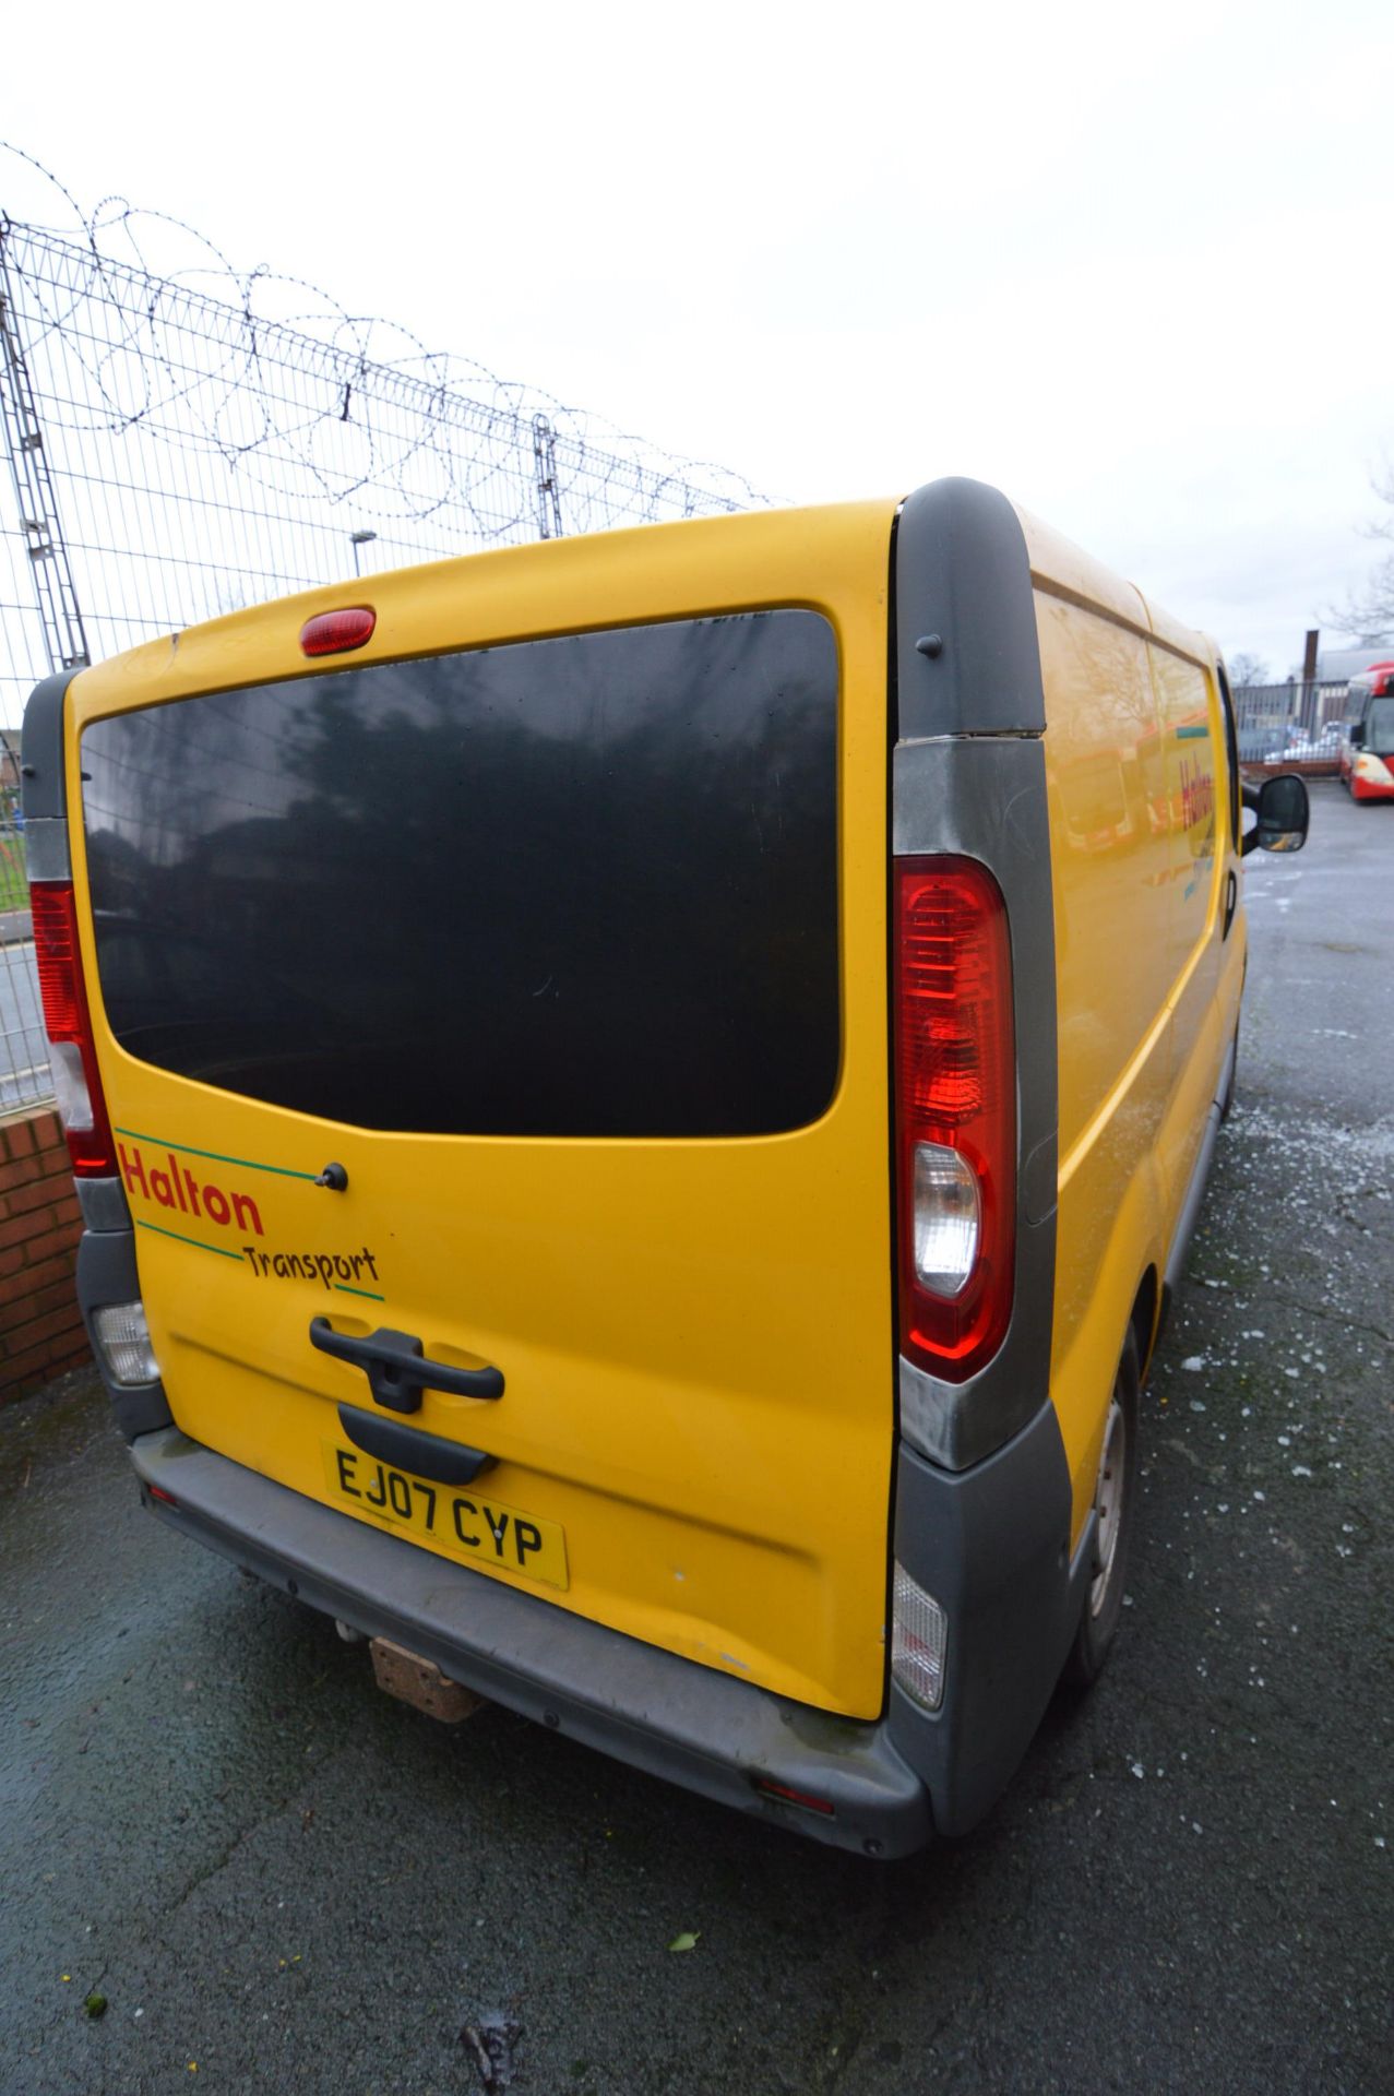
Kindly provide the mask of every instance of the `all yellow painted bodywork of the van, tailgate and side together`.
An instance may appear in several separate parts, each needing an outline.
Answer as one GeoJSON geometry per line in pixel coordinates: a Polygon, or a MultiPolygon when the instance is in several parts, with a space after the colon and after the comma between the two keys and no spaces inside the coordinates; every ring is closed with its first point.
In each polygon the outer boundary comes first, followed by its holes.
{"type": "MultiPolygon", "coordinates": [[[[499,1362],[499,1404],[428,1392],[417,1425],[488,1446],[497,1505],[564,1534],[568,1585],[511,1578],[685,1658],[874,1717],[895,1448],[887,1096],[891,501],[562,539],[367,576],[155,641],[69,692],[128,706],[335,667],[761,606],[841,650],[843,1069],[811,1128],[742,1140],[497,1140],[344,1130],[99,1061],[124,1132],[140,1285],[184,1432],[331,1499],[333,1404],[363,1377],[308,1323],[390,1325],[499,1362]],[[310,664],[314,612],[371,643],[310,664]],[[310,1184],[350,1167],[344,1195],[310,1184]],[[136,1165],[132,1182],[130,1165],[136,1165]],[[252,1256],[254,1253],[254,1256],[252,1256]],[[287,1268],[293,1256],[296,1268],[287,1268]],[[279,1264],[277,1264],[279,1262],[279,1264]],[[337,1264],[335,1264],[337,1262],[337,1264]]],[[[1059,1256],[1050,1381],[1075,1536],[1142,1276],[1159,1279],[1233,1033],[1243,912],[1214,650],[1023,516],[1046,685],[1059,958],[1059,1256]]],[[[82,828],[75,882],[86,897],[82,828]]],[[[1029,1042],[1021,1044],[1029,1052],[1029,1042]]],[[[1042,1346],[1046,1333],[1040,1335],[1042,1346]]],[[[423,1541],[428,1549],[440,1543],[423,1541]]]]}

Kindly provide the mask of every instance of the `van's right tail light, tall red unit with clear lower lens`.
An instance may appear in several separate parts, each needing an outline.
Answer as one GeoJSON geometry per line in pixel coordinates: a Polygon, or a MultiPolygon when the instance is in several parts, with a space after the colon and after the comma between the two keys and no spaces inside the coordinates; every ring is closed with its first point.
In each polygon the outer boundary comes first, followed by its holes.
{"type": "Polygon", "coordinates": [[[895,861],[899,1346],[962,1383],[998,1350],[1017,1249],[1017,1048],[1002,891],[895,861]]]}

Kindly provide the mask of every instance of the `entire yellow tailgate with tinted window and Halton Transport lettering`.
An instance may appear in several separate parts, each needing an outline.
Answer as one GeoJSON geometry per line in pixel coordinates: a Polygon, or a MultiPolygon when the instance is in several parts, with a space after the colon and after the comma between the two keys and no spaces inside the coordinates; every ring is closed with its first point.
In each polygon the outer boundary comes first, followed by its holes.
{"type": "Polygon", "coordinates": [[[176,1423],[857,1717],[893,1453],[889,530],[864,505],[405,570],[69,696],[176,1423]],[[302,625],[365,597],[367,646],[308,660],[302,625]],[[417,1348],[432,1388],[392,1379],[417,1348]],[[430,1490],[365,1417],[488,1461],[430,1490]]]}

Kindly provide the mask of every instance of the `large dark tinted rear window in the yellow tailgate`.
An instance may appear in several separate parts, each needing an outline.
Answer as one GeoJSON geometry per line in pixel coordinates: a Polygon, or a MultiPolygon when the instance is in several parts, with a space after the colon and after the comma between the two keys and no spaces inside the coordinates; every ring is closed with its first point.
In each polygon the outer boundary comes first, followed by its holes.
{"type": "Polygon", "coordinates": [[[771,1134],[841,1054],[836,641],[780,610],[92,723],[124,1048],[434,1134],[771,1134]]]}

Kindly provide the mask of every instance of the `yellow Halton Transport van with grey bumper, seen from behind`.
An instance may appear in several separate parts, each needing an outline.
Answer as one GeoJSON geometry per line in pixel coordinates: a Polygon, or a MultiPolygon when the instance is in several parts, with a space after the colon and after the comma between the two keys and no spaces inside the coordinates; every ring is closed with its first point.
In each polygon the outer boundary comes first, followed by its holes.
{"type": "Polygon", "coordinates": [[[1214,648],[941,480],[176,633],[38,687],[25,807],[151,1509],[820,1840],[971,1828],[1113,1637],[1230,1088],[1214,648]]]}

